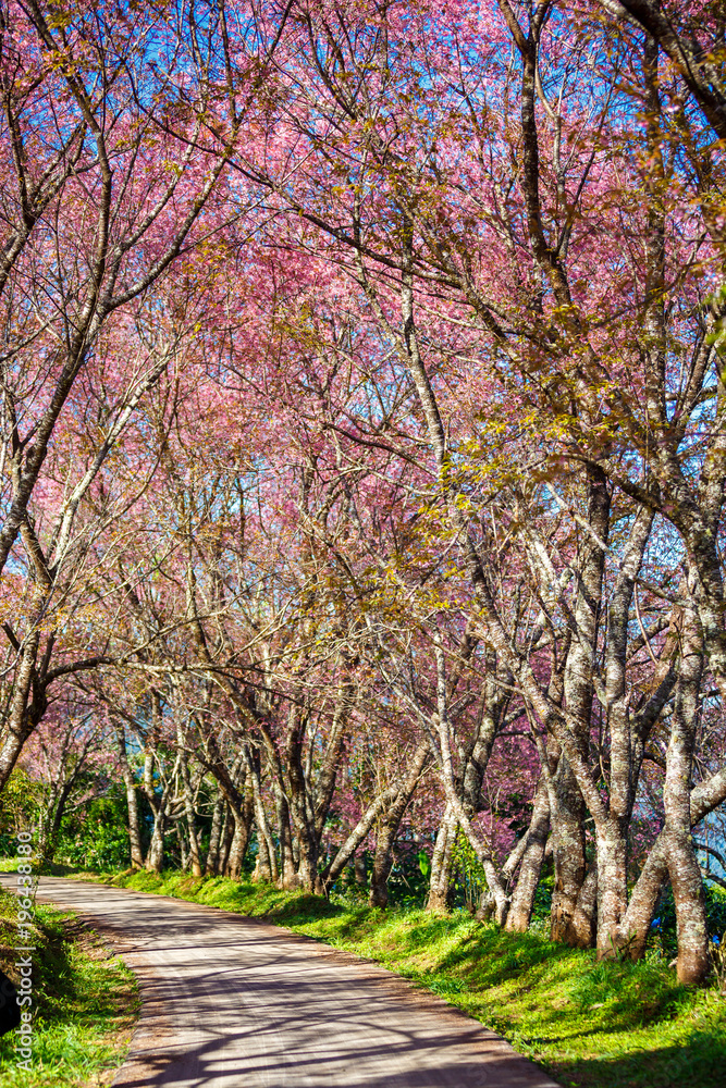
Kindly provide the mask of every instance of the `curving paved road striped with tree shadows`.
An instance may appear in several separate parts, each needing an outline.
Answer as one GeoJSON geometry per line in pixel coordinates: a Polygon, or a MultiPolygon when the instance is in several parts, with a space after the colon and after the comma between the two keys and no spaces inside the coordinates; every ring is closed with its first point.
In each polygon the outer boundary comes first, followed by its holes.
{"type": "Polygon", "coordinates": [[[557,1088],[444,1001],[284,929],[52,877],[38,898],[91,922],[139,979],[119,1088],[557,1088]]]}

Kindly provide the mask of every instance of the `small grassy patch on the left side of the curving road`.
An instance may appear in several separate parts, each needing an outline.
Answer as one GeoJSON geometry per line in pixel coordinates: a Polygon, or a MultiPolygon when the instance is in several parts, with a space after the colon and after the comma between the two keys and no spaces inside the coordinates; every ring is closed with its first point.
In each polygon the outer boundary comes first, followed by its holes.
{"type": "MultiPolygon", "coordinates": [[[[15,982],[17,901],[0,890],[0,967],[15,982]]],[[[13,1088],[108,1085],[127,1050],[138,998],[133,974],[69,912],[37,904],[30,930],[33,1059],[16,1062],[15,1031],[0,1039],[0,1084],[13,1088]]]]}

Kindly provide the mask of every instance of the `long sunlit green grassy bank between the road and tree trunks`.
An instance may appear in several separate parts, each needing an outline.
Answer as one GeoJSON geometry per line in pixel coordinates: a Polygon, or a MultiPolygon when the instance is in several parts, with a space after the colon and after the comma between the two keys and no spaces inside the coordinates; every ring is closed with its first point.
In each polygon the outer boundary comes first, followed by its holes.
{"type": "Polygon", "coordinates": [[[726,999],[679,986],[663,961],[595,964],[543,935],[504,934],[468,914],[378,911],[302,893],[148,873],[120,887],[264,917],[441,994],[577,1088],[713,1088],[726,1067],[726,999]]]}

